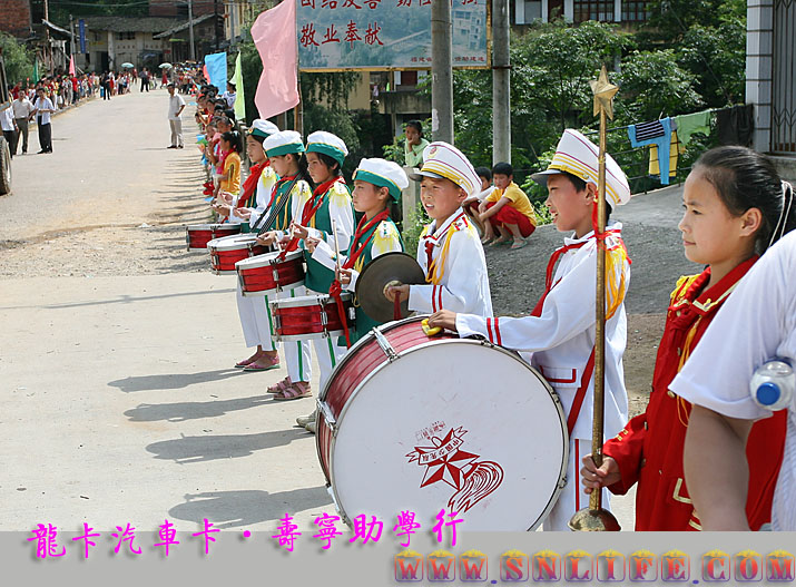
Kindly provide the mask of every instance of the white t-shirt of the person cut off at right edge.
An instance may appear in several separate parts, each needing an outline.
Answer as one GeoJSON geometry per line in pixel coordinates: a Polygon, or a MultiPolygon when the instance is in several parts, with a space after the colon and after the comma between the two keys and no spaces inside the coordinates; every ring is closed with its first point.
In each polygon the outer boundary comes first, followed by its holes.
{"type": "MultiPolygon", "coordinates": [[[[776,356],[796,365],[796,232],[774,245],[718,311],[671,390],[730,418],[770,415],[749,393],[755,370],[776,356]]],[[[775,530],[796,530],[796,399],[772,506],[775,530]]]]}

